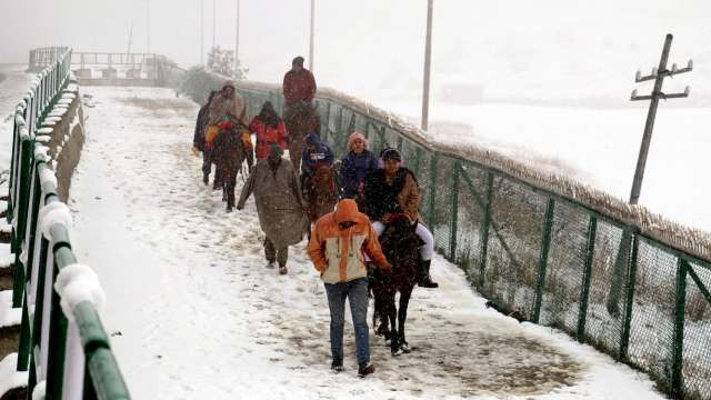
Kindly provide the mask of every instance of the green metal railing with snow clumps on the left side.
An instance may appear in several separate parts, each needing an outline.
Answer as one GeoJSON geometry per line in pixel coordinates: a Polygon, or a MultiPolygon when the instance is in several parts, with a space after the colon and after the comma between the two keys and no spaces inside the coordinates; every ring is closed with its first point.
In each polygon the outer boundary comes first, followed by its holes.
{"type": "Polygon", "coordinates": [[[39,128],[69,84],[71,49],[40,52],[53,56],[14,112],[7,213],[16,254],[13,307],[22,308],[17,368],[29,369],[28,399],[38,384],[46,399],[129,399],[96,301],[60,297],[67,286],[94,296],[100,288],[71,250],[71,217],[40,140],[39,128]]]}

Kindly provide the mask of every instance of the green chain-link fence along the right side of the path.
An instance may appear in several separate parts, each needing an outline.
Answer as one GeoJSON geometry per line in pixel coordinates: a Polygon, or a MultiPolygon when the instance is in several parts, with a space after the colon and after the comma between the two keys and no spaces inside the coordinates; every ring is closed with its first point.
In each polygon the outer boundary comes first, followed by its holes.
{"type": "MultiPolygon", "coordinates": [[[[203,73],[193,80],[208,83],[187,92],[202,101],[222,79],[203,73]]],[[[238,86],[252,114],[267,100],[281,110],[279,87],[238,86]]],[[[639,368],[672,398],[711,399],[709,258],[593,201],[521,179],[515,162],[498,168],[442,150],[415,128],[348,96],[319,90],[316,102],[321,138],[339,157],[353,130],[375,152],[385,146],[402,151],[422,188],[437,250],[480,293],[639,368]]]]}

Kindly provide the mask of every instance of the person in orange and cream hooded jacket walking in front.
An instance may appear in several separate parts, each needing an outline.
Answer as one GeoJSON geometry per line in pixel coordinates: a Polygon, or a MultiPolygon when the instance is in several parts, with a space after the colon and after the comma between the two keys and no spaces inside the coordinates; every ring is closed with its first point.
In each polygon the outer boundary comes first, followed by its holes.
{"type": "Polygon", "coordinates": [[[370,219],[358,211],[352,199],[341,200],[334,212],[316,222],[309,257],[321,273],[331,311],[331,369],[343,370],[343,319],[346,298],[351,306],[356,330],[358,374],[374,372],[368,342],[368,270],[364,253],[385,272],[392,268],[380,249],[370,219]]]}

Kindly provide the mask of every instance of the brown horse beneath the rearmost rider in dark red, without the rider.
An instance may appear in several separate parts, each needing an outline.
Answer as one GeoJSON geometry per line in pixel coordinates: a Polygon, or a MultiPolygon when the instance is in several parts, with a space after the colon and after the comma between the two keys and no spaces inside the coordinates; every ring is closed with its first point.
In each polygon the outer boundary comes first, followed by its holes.
{"type": "Polygon", "coordinates": [[[298,102],[284,109],[283,120],[287,126],[289,158],[293,169],[299,171],[307,134],[310,131],[321,132],[321,117],[311,103],[298,102]]]}

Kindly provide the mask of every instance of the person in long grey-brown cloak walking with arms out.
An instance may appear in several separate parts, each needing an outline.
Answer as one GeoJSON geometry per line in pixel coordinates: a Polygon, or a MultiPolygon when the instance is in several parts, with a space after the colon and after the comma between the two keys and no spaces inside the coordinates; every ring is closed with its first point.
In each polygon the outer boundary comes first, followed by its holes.
{"type": "Polygon", "coordinates": [[[269,157],[257,162],[242,188],[237,209],[242,210],[247,199],[254,193],[259,224],[267,237],[267,267],[273,268],[277,261],[279,273],[284,274],[288,272],[289,246],[301,241],[309,229],[309,219],[297,172],[282,154],[283,150],[272,144],[269,157]]]}

